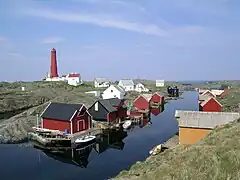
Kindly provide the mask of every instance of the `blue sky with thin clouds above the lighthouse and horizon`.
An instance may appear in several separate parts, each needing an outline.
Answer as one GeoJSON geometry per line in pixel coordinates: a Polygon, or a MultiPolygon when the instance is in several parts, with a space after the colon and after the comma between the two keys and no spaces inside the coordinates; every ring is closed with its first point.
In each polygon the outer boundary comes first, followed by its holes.
{"type": "Polygon", "coordinates": [[[1,0],[0,81],[240,77],[239,0],[1,0]]]}

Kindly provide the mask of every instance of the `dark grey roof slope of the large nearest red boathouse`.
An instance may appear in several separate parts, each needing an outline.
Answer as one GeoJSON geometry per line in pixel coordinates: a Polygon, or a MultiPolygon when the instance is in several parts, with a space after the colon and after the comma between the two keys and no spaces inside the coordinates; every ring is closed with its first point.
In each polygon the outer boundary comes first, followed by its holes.
{"type": "Polygon", "coordinates": [[[82,106],[82,104],[50,103],[41,117],[70,121],[74,113],[82,106]]]}

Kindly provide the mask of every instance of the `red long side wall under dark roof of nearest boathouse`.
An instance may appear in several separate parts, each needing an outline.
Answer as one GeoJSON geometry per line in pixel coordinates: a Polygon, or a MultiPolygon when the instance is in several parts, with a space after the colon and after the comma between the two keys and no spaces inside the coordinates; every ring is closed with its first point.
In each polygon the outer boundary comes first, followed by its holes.
{"type": "Polygon", "coordinates": [[[68,133],[71,133],[71,123],[70,121],[62,121],[56,119],[43,119],[42,120],[43,128],[51,130],[65,131],[68,130],[68,133]]]}

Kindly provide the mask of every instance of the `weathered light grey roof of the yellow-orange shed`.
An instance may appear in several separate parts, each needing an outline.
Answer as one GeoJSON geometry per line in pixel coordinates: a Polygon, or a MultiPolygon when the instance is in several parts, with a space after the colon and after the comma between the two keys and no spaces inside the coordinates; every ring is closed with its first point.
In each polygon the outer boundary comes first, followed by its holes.
{"type": "Polygon", "coordinates": [[[238,119],[240,113],[176,110],[175,117],[178,118],[179,127],[213,129],[238,119]]]}

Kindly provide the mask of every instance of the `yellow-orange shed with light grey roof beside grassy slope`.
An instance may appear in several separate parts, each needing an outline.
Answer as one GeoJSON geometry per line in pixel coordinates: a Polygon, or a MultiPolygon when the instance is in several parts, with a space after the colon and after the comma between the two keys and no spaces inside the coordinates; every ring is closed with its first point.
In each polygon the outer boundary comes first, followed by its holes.
{"type": "Polygon", "coordinates": [[[240,113],[176,110],[175,117],[178,119],[179,144],[196,144],[216,126],[238,119],[240,113]]]}

